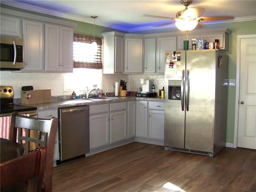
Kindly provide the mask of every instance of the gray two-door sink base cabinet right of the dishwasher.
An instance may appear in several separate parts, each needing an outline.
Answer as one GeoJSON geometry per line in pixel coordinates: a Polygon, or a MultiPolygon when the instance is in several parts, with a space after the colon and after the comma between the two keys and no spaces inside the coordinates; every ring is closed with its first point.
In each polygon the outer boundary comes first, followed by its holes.
{"type": "Polygon", "coordinates": [[[90,106],[90,149],[127,138],[127,102],[90,106]]]}

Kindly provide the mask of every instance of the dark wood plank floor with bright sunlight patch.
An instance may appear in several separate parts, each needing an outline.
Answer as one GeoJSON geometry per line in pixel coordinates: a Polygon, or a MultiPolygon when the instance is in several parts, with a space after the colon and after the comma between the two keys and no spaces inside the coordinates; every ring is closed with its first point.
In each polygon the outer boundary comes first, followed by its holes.
{"type": "Polygon", "coordinates": [[[214,158],[134,142],[53,169],[52,192],[256,192],[256,151],[214,158]]]}

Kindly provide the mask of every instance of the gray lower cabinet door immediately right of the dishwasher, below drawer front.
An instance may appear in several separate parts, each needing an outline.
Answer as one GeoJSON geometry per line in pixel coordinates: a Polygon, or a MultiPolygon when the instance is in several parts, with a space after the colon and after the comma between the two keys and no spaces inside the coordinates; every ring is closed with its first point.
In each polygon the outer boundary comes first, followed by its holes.
{"type": "Polygon", "coordinates": [[[109,113],[90,115],[90,149],[109,144],[109,113]]]}

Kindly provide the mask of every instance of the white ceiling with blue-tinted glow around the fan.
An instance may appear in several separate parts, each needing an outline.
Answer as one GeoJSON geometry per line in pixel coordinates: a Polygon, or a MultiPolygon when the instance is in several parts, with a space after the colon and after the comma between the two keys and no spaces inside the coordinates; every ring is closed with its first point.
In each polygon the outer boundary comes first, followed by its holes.
{"type": "MultiPolygon", "coordinates": [[[[144,14],[175,18],[176,12],[185,9],[180,0],[1,0],[1,3],[87,23],[93,23],[91,16],[96,15],[96,25],[127,32],[173,27],[173,24],[156,27],[172,20],[144,14]]],[[[204,8],[202,16],[234,16],[234,21],[256,18],[256,0],[194,0],[188,8],[204,8]]]]}

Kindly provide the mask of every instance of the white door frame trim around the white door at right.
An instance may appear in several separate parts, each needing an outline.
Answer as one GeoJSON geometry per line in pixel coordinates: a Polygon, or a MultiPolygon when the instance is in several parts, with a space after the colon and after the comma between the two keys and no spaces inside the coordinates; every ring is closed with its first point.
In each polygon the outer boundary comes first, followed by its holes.
{"type": "Polygon", "coordinates": [[[235,106],[235,127],[234,127],[234,143],[233,148],[237,148],[238,138],[238,112],[239,112],[239,94],[240,94],[240,52],[241,52],[241,39],[256,38],[256,34],[251,35],[238,35],[236,38],[236,106],[235,106]]]}

